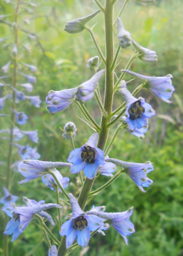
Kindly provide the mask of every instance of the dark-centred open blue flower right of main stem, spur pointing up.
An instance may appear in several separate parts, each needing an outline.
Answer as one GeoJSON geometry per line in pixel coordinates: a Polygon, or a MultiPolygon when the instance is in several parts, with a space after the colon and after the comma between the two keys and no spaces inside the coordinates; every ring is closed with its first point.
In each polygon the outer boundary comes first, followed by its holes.
{"type": "Polygon", "coordinates": [[[148,118],[155,115],[155,110],[152,106],[145,102],[144,98],[135,98],[127,90],[126,86],[121,88],[119,92],[123,95],[126,101],[126,122],[130,131],[147,127],[148,118]]]}

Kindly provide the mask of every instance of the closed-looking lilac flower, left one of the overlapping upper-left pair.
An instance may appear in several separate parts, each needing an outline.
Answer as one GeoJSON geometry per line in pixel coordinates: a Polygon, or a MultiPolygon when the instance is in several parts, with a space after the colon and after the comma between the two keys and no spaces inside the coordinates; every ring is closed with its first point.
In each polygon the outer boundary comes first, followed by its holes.
{"type": "Polygon", "coordinates": [[[47,109],[52,115],[67,108],[74,100],[77,88],[61,91],[49,91],[46,97],[47,109]]]}

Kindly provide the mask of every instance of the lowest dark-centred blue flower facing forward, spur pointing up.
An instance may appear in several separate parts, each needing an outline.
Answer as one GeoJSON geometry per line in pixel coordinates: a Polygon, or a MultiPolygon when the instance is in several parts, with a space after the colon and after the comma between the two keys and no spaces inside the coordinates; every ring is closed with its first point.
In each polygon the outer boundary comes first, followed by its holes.
{"type": "Polygon", "coordinates": [[[61,236],[67,236],[67,249],[72,245],[76,237],[77,243],[85,247],[89,242],[91,231],[104,226],[104,223],[101,218],[97,216],[87,216],[87,214],[81,210],[76,198],[71,193],[68,195],[70,197],[72,217],[61,226],[59,233],[61,236]]]}

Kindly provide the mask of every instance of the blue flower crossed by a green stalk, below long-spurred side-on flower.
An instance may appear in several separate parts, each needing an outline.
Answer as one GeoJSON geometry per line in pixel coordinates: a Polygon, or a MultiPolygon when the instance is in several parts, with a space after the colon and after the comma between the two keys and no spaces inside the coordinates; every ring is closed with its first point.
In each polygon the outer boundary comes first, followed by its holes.
{"type": "MultiPolygon", "coordinates": [[[[70,179],[68,177],[63,178],[61,173],[57,171],[56,168],[51,171],[55,174],[63,189],[66,189],[66,187],[68,187],[69,185],[68,182],[70,181],[70,179]]],[[[57,185],[57,183],[51,174],[47,173],[46,175],[42,176],[42,181],[47,187],[55,191],[55,185],[57,185]]],[[[61,192],[60,188],[59,191],[61,192]]]]}

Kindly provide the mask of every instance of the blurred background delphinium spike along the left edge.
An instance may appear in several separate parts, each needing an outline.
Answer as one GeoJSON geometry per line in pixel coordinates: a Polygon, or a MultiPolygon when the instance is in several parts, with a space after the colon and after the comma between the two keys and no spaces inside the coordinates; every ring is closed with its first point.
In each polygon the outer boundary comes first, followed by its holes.
{"type": "MultiPolygon", "coordinates": [[[[37,67],[31,63],[23,61],[25,60],[26,52],[30,51],[30,43],[28,41],[29,37],[32,36],[31,32],[25,29],[25,25],[30,23],[30,20],[27,18],[25,19],[25,17],[34,13],[35,4],[21,0],[7,0],[4,1],[4,5],[6,4],[9,5],[8,9],[11,10],[11,13],[8,15],[1,13],[0,15],[0,23],[7,26],[7,31],[9,28],[10,34],[10,36],[0,39],[2,49],[5,51],[6,59],[5,63],[3,63],[4,61],[1,61],[0,69],[0,119],[6,118],[5,122],[1,122],[0,140],[1,142],[3,142],[3,140],[8,142],[8,155],[7,159],[1,159],[1,164],[7,164],[7,172],[4,175],[6,179],[3,187],[4,197],[0,199],[0,203],[4,205],[3,210],[8,214],[5,214],[5,223],[8,224],[4,232],[4,255],[8,256],[7,234],[11,234],[13,228],[16,230],[14,238],[19,232],[21,233],[21,231],[16,228],[17,222],[9,222],[8,217],[12,216],[11,209],[8,207],[10,207],[11,203],[15,204],[18,199],[16,195],[12,195],[9,192],[14,183],[13,179],[15,178],[15,173],[12,175],[12,170],[16,170],[17,165],[25,159],[40,158],[40,154],[37,152],[36,147],[32,148],[29,144],[22,145],[21,142],[20,144],[17,144],[17,141],[21,140],[21,138],[26,135],[29,140],[38,143],[37,130],[24,131],[24,124],[27,123],[29,118],[27,114],[24,113],[24,109],[26,109],[25,104],[28,101],[31,101],[31,104],[36,108],[40,108],[41,100],[39,96],[27,95],[27,93],[32,92],[33,84],[37,82],[34,75],[37,71],[37,67]],[[25,31],[27,32],[26,36],[24,35],[25,31]],[[5,106],[6,103],[7,105],[5,106]],[[9,109],[8,106],[10,106],[9,109]],[[10,119],[9,121],[7,120],[8,118],[10,119]],[[10,124],[9,127],[7,126],[8,123],[10,124]],[[13,153],[16,151],[16,148],[18,148],[19,155],[13,153]]],[[[1,154],[1,156],[2,155],[3,154],[1,154]]],[[[29,201],[26,201],[26,203],[27,202],[29,201]]],[[[38,203],[38,205],[40,204],[41,203],[38,203]]],[[[45,205],[45,207],[49,208],[50,206],[45,205]]],[[[17,220],[16,210],[13,211],[13,216],[15,217],[15,220],[17,220]]]]}

